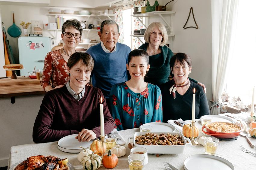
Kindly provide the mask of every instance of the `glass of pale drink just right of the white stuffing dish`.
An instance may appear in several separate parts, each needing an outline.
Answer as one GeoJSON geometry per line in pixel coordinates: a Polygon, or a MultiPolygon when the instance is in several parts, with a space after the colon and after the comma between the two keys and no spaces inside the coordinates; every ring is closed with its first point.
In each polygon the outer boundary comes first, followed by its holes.
{"type": "Polygon", "coordinates": [[[214,137],[204,138],[205,154],[215,155],[218,143],[219,143],[219,139],[217,139],[217,138],[214,138],[214,137]]]}

